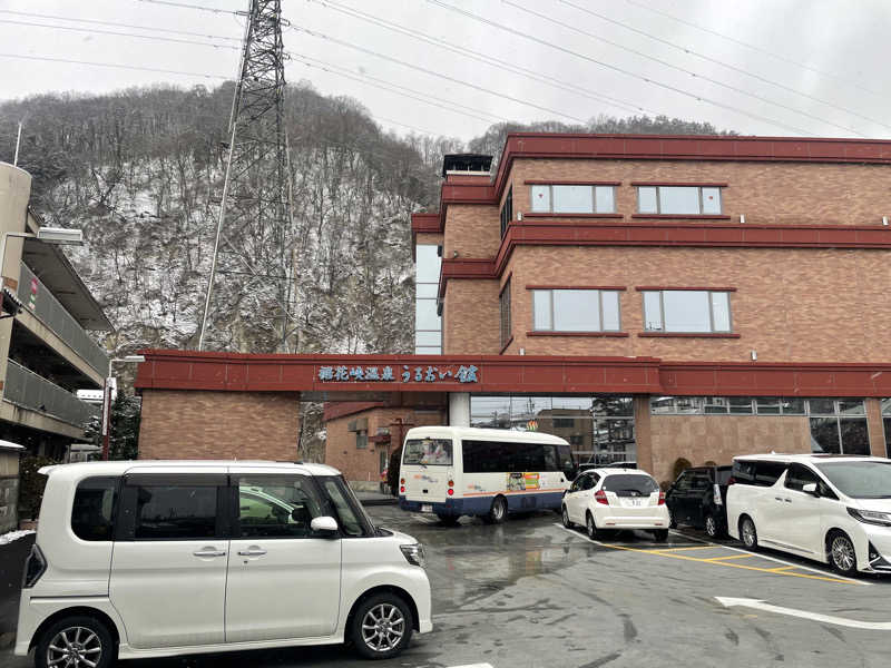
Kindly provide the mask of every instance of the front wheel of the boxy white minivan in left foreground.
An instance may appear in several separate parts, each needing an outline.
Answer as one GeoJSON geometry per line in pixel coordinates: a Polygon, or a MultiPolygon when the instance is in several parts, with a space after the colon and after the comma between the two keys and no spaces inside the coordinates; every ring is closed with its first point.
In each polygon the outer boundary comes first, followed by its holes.
{"type": "Polygon", "coordinates": [[[414,620],[411,608],[399,596],[383,592],[356,606],[349,638],[366,659],[390,659],[409,646],[414,620]]]}

